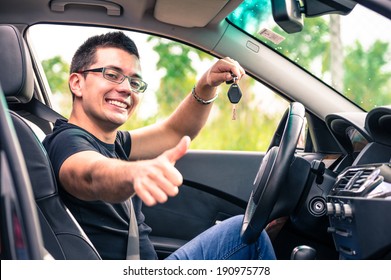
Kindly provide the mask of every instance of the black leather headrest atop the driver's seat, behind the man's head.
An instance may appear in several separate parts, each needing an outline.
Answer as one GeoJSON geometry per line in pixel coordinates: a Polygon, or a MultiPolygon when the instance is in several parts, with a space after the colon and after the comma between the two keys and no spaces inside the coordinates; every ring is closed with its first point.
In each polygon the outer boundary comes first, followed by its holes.
{"type": "Polygon", "coordinates": [[[27,103],[33,97],[34,77],[29,51],[12,25],[0,25],[0,84],[9,103],[27,103]]]}

